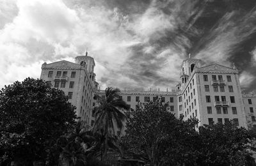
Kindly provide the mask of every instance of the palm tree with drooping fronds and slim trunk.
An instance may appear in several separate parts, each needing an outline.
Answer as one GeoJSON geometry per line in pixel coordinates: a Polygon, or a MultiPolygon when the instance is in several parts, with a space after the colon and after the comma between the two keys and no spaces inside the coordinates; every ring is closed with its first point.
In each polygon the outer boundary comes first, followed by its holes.
{"type": "Polygon", "coordinates": [[[118,93],[120,93],[119,89],[107,87],[104,97],[97,96],[98,105],[94,108],[96,121],[93,130],[104,134],[105,158],[107,156],[109,134],[115,135],[115,126],[122,129],[125,119],[125,114],[122,112],[122,109],[129,109],[128,105],[120,98],[118,93]]]}

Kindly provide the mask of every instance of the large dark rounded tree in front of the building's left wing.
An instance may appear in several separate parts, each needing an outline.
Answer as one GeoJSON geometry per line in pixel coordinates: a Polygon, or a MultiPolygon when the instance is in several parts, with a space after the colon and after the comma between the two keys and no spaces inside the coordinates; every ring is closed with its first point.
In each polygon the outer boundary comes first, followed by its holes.
{"type": "Polygon", "coordinates": [[[76,108],[59,89],[25,79],[0,91],[0,149],[12,160],[45,160],[76,119],[76,108]]]}

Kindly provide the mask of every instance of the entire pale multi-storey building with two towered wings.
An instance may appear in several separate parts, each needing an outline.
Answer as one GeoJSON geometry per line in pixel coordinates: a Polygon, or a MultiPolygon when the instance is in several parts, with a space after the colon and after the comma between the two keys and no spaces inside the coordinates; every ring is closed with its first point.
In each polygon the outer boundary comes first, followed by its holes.
{"type": "MultiPolygon", "coordinates": [[[[98,90],[95,81],[95,62],[92,57],[76,57],[76,63],[58,61],[42,64],[41,79],[53,87],[63,90],[70,102],[77,107],[77,116],[93,125],[95,117],[92,106],[98,90]]],[[[110,85],[111,86],[111,85],[110,85]]],[[[241,93],[239,75],[236,66],[220,64],[202,66],[200,59],[185,59],[180,66],[180,82],[172,91],[121,91],[120,96],[132,109],[138,102],[156,100],[170,104],[170,112],[184,120],[197,118],[199,125],[225,123],[233,120],[237,126],[256,127],[256,95],[241,93]]]]}

